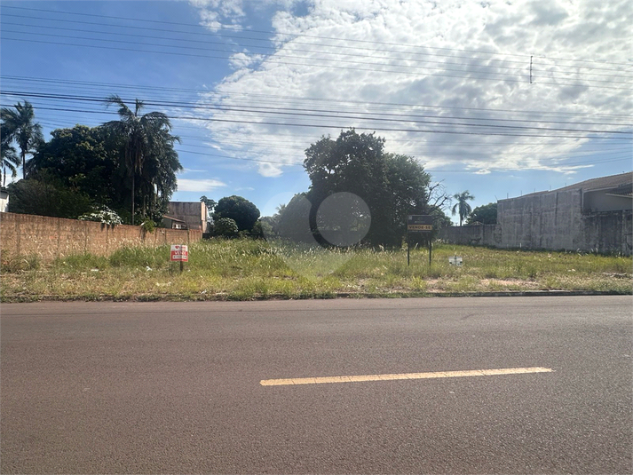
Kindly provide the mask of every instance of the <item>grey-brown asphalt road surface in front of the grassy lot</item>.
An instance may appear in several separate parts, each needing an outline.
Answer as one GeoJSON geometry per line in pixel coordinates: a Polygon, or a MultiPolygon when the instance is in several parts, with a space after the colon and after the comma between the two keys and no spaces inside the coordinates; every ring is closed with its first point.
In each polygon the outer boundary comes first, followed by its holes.
{"type": "Polygon", "coordinates": [[[0,471],[633,473],[632,305],[2,305],[0,471]]]}

